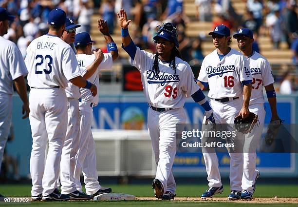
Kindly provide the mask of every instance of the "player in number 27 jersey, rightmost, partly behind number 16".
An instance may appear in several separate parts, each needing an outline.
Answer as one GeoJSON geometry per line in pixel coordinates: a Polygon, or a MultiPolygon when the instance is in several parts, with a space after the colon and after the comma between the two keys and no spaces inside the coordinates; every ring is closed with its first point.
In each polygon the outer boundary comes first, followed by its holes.
{"type": "Polygon", "coordinates": [[[249,111],[258,115],[259,126],[255,126],[253,131],[245,136],[243,151],[243,176],[242,176],[242,199],[252,199],[256,189],[256,180],[260,176],[256,169],[256,146],[260,141],[265,120],[263,88],[265,87],[267,98],[271,108],[271,121],[279,120],[276,109],[276,92],[274,89],[274,79],[270,64],[260,53],[252,49],[253,33],[248,28],[241,28],[235,35],[238,47],[244,55],[251,69],[252,91],[249,102],[249,111]]]}

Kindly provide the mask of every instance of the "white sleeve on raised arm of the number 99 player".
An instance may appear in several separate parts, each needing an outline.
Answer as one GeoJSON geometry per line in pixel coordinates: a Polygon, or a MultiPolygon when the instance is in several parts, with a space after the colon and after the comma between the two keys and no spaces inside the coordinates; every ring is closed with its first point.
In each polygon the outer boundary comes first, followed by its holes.
{"type": "Polygon", "coordinates": [[[154,54],[141,50],[139,47],[136,47],[134,59],[130,59],[130,63],[136,68],[138,68],[140,72],[142,72],[145,69],[147,69],[146,67],[148,66],[148,64],[150,64],[149,62],[153,61],[153,58],[154,54]]]}

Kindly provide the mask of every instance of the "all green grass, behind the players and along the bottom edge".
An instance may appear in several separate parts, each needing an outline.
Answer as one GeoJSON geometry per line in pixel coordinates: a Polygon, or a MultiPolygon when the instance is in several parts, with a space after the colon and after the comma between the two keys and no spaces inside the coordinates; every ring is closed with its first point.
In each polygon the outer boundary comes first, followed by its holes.
{"type": "MultiPolygon", "coordinates": [[[[110,186],[113,192],[121,192],[132,194],[137,197],[153,197],[153,190],[151,185],[105,185],[110,186]]],[[[177,185],[177,196],[178,197],[199,197],[207,189],[206,185],[177,185]]],[[[298,185],[271,185],[271,184],[259,184],[257,185],[257,190],[255,192],[255,197],[298,197],[298,185]]],[[[31,186],[30,185],[0,185],[0,193],[7,197],[29,197],[31,196],[31,186]]],[[[224,191],[222,194],[216,195],[216,197],[227,197],[230,193],[229,186],[224,186],[224,191]]],[[[104,206],[104,207],[138,207],[138,206],[157,206],[158,207],[284,207],[284,206],[297,206],[297,204],[252,204],[249,201],[246,203],[233,203],[233,202],[209,202],[209,201],[198,201],[198,202],[182,202],[182,201],[117,201],[117,202],[93,202],[93,201],[83,201],[83,202],[34,202],[34,203],[0,203],[0,206],[55,206],[55,207],[71,207],[71,206],[81,206],[81,207],[93,207],[93,206],[104,206]]]]}

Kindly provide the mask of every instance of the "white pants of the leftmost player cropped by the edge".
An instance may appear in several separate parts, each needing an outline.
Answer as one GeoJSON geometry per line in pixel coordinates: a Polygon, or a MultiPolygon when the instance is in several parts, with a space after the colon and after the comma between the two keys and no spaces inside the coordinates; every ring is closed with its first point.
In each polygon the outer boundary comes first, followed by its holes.
{"type": "Polygon", "coordinates": [[[12,118],[12,95],[0,92],[0,169],[12,118]]]}

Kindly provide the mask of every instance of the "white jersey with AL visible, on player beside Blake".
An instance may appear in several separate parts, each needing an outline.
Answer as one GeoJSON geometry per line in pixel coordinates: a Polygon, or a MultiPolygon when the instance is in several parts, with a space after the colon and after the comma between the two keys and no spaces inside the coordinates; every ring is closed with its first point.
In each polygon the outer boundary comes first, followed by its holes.
{"type": "MultiPolygon", "coordinates": [[[[85,74],[87,72],[86,67],[91,65],[95,60],[95,55],[86,55],[86,54],[78,54],[76,55],[76,60],[83,72],[85,74]]],[[[91,83],[96,85],[97,89],[99,88],[99,78],[98,72],[100,69],[112,69],[113,58],[110,53],[105,53],[102,62],[99,64],[97,68],[97,72],[93,73],[93,75],[88,79],[91,83]]],[[[94,105],[98,104],[98,93],[96,96],[92,95],[91,90],[86,88],[80,88],[81,98],[87,101],[92,102],[94,105]]]]}

